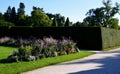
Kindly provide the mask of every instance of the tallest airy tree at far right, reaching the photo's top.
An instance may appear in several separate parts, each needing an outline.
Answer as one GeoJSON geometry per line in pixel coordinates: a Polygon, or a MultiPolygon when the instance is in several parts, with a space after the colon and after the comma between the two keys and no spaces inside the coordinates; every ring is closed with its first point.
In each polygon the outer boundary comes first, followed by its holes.
{"type": "MultiPolygon", "coordinates": [[[[104,11],[105,11],[105,24],[106,27],[112,27],[111,26],[111,20],[113,22],[113,20],[119,21],[117,19],[114,19],[113,17],[119,13],[120,11],[120,5],[116,2],[115,6],[112,7],[112,2],[111,0],[107,0],[107,1],[103,1],[103,5],[104,5],[104,11]]],[[[115,25],[115,24],[114,24],[115,25]]],[[[118,25],[118,24],[117,24],[118,25]]]]}

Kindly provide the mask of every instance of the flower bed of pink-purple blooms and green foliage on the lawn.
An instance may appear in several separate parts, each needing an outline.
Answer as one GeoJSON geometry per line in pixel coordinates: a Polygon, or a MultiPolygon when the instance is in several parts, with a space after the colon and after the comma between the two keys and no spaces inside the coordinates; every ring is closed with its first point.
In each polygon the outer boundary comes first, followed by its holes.
{"type": "MultiPolygon", "coordinates": [[[[10,41],[10,38],[3,38],[2,40],[5,40],[3,41],[4,43],[10,41]]],[[[44,37],[43,40],[19,39],[19,43],[17,42],[18,41],[15,41],[13,44],[21,44],[21,46],[18,51],[8,57],[9,62],[30,61],[43,57],[55,57],[79,52],[76,43],[70,39],[56,40],[52,37],[44,37]]]]}

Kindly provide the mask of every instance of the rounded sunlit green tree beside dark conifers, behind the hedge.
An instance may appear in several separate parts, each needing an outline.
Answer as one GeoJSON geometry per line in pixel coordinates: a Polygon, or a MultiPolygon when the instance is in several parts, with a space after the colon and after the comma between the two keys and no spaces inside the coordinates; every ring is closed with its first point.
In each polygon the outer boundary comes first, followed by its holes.
{"type": "Polygon", "coordinates": [[[52,20],[40,8],[33,7],[31,15],[32,25],[34,27],[48,27],[52,25],[52,20]]]}

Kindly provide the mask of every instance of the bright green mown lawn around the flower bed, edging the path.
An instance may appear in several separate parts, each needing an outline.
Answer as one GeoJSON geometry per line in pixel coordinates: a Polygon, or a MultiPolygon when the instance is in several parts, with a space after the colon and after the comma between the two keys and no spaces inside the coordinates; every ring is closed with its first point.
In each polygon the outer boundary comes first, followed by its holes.
{"type": "Polygon", "coordinates": [[[17,48],[0,46],[0,74],[20,74],[25,71],[41,68],[74,59],[80,59],[94,53],[81,51],[80,53],[44,58],[31,62],[4,63],[5,59],[17,48]]]}

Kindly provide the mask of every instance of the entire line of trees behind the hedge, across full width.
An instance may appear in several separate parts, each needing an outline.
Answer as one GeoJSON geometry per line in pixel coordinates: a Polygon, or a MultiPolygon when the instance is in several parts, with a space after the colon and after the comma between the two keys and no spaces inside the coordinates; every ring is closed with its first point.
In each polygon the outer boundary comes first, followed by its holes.
{"type": "Polygon", "coordinates": [[[120,5],[116,2],[113,6],[111,0],[103,0],[102,3],[102,7],[90,9],[83,22],[76,23],[61,14],[45,13],[43,8],[34,6],[31,15],[25,15],[25,5],[20,3],[17,11],[9,6],[4,14],[0,13],[0,26],[119,28],[119,20],[114,16],[119,14],[120,5]]]}

